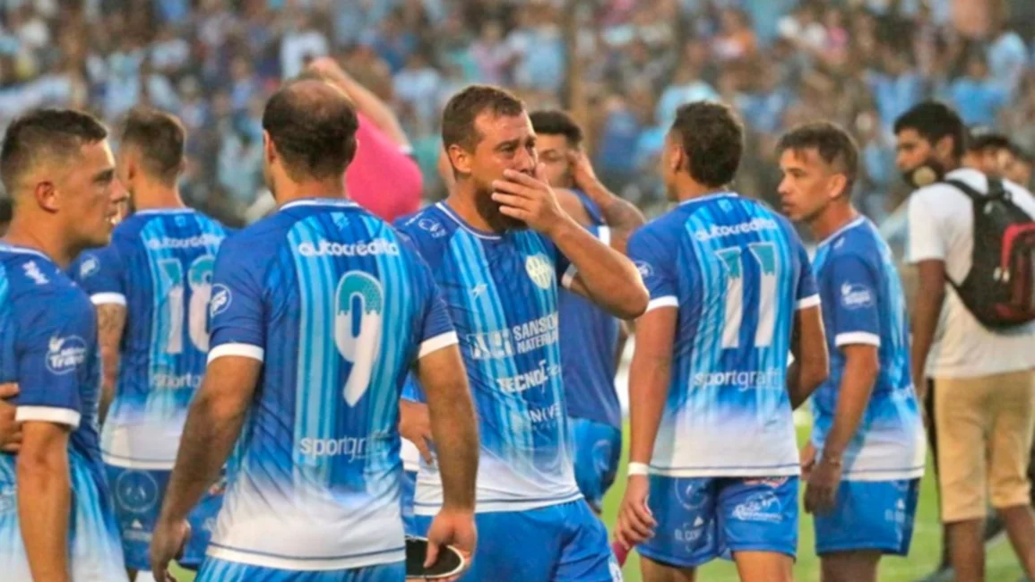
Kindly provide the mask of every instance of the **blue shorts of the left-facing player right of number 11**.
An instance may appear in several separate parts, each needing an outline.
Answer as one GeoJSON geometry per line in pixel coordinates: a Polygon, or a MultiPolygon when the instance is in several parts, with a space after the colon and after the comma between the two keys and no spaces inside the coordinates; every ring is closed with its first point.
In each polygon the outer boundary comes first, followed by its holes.
{"type": "Polygon", "coordinates": [[[920,480],[842,481],[834,510],[816,516],[816,553],[880,550],[905,556],[920,480]]]}

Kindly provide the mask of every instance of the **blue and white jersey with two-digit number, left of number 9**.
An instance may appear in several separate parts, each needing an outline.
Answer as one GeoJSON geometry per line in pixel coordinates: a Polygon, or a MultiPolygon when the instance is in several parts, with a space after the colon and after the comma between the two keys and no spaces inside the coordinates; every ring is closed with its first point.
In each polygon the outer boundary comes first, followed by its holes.
{"type": "Polygon", "coordinates": [[[144,210],[70,269],[95,305],[126,307],[105,462],[172,469],[208,353],[208,300],[227,229],[190,209],[144,210]]]}

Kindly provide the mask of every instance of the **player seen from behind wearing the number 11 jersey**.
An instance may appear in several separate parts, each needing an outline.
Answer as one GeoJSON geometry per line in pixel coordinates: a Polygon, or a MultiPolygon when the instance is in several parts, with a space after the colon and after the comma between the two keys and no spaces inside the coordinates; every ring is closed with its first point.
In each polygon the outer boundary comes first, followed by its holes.
{"type": "Polygon", "coordinates": [[[693,580],[697,566],[730,553],[741,580],[792,578],[800,471],[792,409],[826,378],[826,340],[794,228],[729,189],[743,148],[727,106],[681,106],[661,154],[679,206],[629,241],[651,301],[629,370],[617,538],[642,543],[648,582],[693,580]]]}

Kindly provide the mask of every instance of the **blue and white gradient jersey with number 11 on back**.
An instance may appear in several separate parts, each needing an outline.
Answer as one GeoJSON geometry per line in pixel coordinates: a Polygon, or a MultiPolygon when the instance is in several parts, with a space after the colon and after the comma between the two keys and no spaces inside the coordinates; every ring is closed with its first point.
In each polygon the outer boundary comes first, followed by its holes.
{"type": "Polygon", "coordinates": [[[648,311],[677,307],[650,468],[668,477],[799,472],[787,390],[797,309],[819,305],[791,224],[734,193],[692,198],[633,234],[648,311]]]}

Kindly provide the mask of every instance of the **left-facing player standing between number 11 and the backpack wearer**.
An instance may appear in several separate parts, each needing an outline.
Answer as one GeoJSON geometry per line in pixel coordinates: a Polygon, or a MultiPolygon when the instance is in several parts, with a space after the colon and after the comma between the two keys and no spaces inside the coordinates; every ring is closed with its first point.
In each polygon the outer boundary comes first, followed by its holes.
{"type": "Polygon", "coordinates": [[[852,206],[859,154],[830,123],[780,137],[783,212],[822,241],[816,272],[830,377],[812,396],[802,453],[825,582],[876,582],[906,555],[926,447],[909,365],[906,298],[891,249],[852,206]]]}

